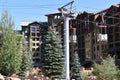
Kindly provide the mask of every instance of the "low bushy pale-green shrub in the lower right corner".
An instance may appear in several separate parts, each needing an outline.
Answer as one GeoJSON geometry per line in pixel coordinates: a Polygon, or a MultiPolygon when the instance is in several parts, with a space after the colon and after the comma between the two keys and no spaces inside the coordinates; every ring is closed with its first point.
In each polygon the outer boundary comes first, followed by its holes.
{"type": "Polygon", "coordinates": [[[117,79],[118,71],[114,59],[108,56],[101,64],[95,64],[93,74],[97,76],[97,80],[117,79]]]}

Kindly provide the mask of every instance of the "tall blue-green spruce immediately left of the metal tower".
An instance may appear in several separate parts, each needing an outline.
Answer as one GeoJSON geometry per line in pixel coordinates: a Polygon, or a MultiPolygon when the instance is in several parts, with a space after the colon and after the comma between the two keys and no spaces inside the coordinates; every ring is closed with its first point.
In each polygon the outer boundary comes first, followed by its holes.
{"type": "Polygon", "coordinates": [[[61,37],[53,26],[50,26],[45,36],[43,50],[43,69],[50,78],[63,78],[64,54],[61,37]]]}

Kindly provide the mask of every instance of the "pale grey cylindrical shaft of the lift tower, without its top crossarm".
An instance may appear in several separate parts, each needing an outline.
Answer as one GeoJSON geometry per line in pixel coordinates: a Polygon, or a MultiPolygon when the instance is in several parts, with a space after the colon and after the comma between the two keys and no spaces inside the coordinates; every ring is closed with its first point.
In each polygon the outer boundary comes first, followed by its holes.
{"type": "Polygon", "coordinates": [[[69,64],[69,17],[64,16],[64,54],[65,54],[65,77],[70,80],[69,64]]]}

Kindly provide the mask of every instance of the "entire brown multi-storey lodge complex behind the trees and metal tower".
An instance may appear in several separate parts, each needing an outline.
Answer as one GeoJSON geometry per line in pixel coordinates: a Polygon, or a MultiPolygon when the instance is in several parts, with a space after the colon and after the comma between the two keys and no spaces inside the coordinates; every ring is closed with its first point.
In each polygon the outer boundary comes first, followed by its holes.
{"type": "MultiPolygon", "coordinates": [[[[35,66],[40,66],[41,43],[48,26],[56,27],[62,38],[64,49],[64,22],[62,14],[46,15],[48,22],[23,22],[22,33],[29,49],[34,53],[35,66]],[[49,25],[48,25],[49,24],[49,25]]],[[[113,5],[97,13],[83,12],[70,16],[69,44],[70,57],[78,52],[82,66],[92,66],[93,62],[101,62],[101,57],[109,54],[120,63],[120,4],[113,5]]]]}

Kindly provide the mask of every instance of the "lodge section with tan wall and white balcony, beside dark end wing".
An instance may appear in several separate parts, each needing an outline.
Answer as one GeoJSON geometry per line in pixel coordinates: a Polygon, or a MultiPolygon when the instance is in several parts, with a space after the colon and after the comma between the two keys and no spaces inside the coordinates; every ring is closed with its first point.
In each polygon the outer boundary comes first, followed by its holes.
{"type": "Polygon", "coordinates": [[[78,55],[82,66],[100,62],[107,49],[106,26],[100,14],[83,12],[76,17],[78,55]]]}

